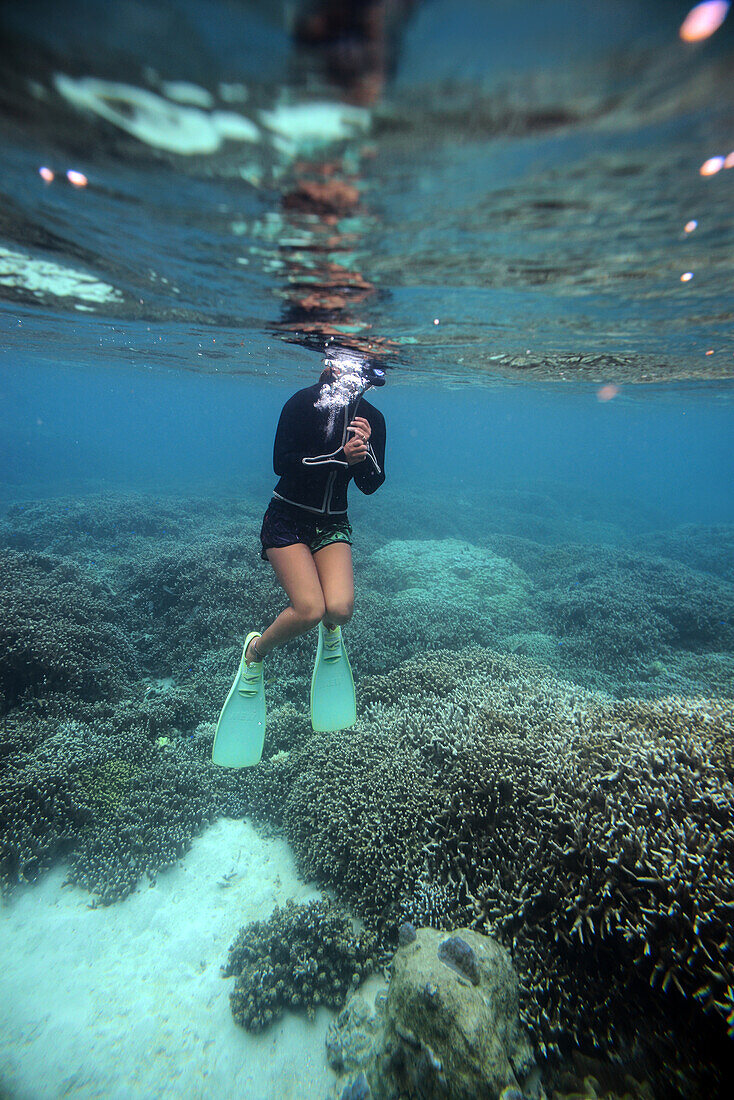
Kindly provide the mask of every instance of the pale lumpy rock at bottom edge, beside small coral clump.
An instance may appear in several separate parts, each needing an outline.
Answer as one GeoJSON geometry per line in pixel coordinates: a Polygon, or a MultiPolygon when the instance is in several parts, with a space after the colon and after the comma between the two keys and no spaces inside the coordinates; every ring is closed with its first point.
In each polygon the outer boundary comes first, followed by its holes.
{"type": "Polygon", "coordinates": [[[352,998],[327,1048],[341,1075],[337,1097],[363,1074],[374,1100],[497,1100],[519,1092],[533,1068],[510,956],[468,928],[417,930],[398,947],[375,1012],[352,998]]]}

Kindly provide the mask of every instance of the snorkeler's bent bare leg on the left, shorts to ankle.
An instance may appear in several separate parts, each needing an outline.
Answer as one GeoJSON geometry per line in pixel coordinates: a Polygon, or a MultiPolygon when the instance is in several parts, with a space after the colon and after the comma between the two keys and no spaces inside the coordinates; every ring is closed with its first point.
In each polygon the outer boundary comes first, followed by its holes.
{"type": "Polygon", "coordinates": [[[320,623],[326,612],[314,556],[305,543],[273,548],[266,553],[291,606],[281,612],[262,637],[256,639],[254,651],[253,644],[250,644],[245,658],[248,662],[266,657],[277,646],[306,634],[320,623]]]}

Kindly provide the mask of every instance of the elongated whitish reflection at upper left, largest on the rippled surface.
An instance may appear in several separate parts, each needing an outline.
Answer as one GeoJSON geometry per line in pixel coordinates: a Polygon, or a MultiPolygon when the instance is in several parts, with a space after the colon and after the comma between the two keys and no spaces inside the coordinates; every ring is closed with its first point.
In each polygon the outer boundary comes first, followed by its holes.
{"type": "Polygon", "coordinates": [[[146,88],[91,76],[75,79],[58,73],[54,84],[78,110],[92,111],[146,145],[169,153],[215,153],[226,140],[260,139],[255,123],[234,111],[208,112],[173,103],[146,88]]]}

